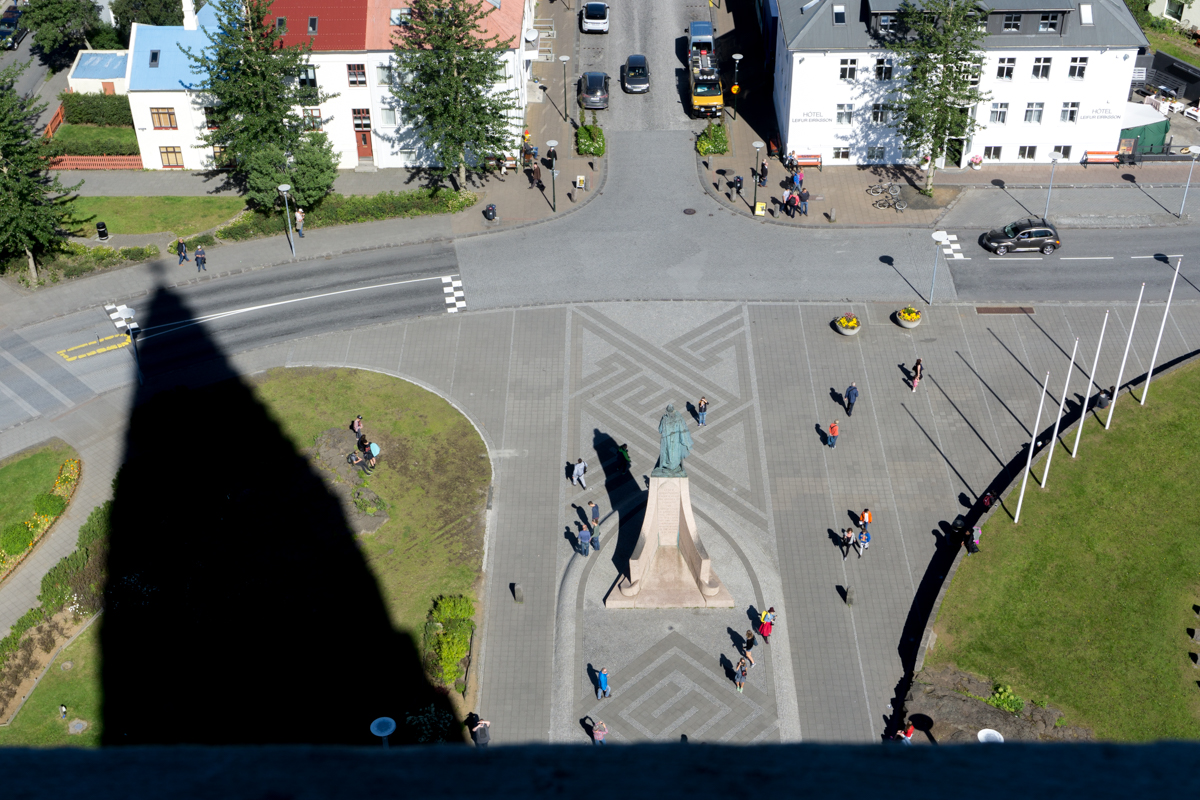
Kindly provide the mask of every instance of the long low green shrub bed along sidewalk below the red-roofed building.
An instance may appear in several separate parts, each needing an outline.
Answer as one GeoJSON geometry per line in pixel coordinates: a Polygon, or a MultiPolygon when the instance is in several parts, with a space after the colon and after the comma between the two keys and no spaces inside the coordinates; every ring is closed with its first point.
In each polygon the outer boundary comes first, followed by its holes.
{"type": "MultiPolygon", "coordinates": [[[[408,192],[383,192],[373,197],[330,194],[320,205],[305,210],[305,229],[374,222],[396,217],[420,217],[433,213],[457,213],[469,209],[479,197],[474,192],[446,188],[419,188],[408,192]]],[[[217,230],[217,236],[244,241],[281,234],[287,222],[281,210],[247,211],[217,230]]]]}

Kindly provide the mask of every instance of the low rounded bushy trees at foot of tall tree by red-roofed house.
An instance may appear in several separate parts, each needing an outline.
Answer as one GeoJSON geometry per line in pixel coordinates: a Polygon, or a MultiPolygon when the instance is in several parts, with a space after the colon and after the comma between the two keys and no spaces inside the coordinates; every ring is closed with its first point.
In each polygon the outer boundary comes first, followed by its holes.
{"type": "Polygon", "coordinates": [[[280,184],[290,184],[289,194],[300,207],[313,206],[329,194],[337,178],[337,156],[324,133],[306,133],[292,160],[282,148],[266,144],[250,156],[246,197],[262,209],[282,203],[280,184]]]}

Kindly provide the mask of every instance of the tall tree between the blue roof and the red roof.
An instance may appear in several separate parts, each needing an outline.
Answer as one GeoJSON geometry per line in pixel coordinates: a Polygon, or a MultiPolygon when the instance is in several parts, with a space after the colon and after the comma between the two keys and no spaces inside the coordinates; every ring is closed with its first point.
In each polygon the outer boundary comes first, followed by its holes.
{"type": "Polygon", "coordinates": [[[234,173],[245,178],[251,156],[266,143],[295,154],[305,132],[299,107],[319,106],[336,95],[301,85],[312,48],[283,46],[271,0],[212,1],[218,24],[216,30],[204,29],[209,46],[199,53],[180,49],[200,77],[191,89],[212,104],[209,124],[215,130],[200,139],[222,148],[234,173]]]}

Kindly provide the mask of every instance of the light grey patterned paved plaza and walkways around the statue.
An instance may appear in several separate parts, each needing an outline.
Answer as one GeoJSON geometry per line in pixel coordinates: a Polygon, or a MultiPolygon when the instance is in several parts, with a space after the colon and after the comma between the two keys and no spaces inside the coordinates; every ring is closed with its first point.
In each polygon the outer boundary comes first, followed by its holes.
{"type": "MultiPolygon", "coordinates": [[[[901,302],[852,303],[866,320],[854,338],[829,326],[846,306],[626,302],[468,312],[232,360],[244,373],[349,366],[408,378],[479,427],[494,469],[480,712],[498,742],[586,741],[587,717],[605,720],[617,741],[864,742],[877,740],[889,714],[902,674],[900,632],[942,525],[1020,452],[1046,371],[1054,402],[1073,338],[1092,353],[1104,315],[1088,305],[1038,305],[1032,315],[937,306],[910,332],[889,320],[901,302]],[[918,356],[926,379],[912,393],[905,367],[918,356]],[[848,417],[839,398],[852,380],[862,397],[848,417]],[[683,407],[702,393],[713,403],[709,427],[694,432],[688,470],[702,539],[737,607],[607,612],[602,599],[623,566],[617,554],[640,524],[656,421],[667,403],[683,407]],[[834,419],[841,438],[830,450],[820,432],[834,419]],[[632,481],[616,469],[614,444],[630,447],[632,481]],[[587,489],[563,477],[580,456],[592,464],[587,489]],[[617,515],[605,523],[600,554],[584,561],[564,534],[588,500],[617,515]],[[875,513],[874,547],[844,560],[834,531],[863,507],[875,513]],[[523,604],[512,602],[512,583],[523,604]],[[847,587],[853,607],[839,595],[847,587]],[[764,606],[780,612],[778,633],[738,694],[725,667],[764,606]],[[598,703],[592,675],[601,667],[614,698],[598,703]]],[[[1115,380],[1132,309],[1112,312],[1102,385],[1115,380]]],[[[1151,321],[1134,336],[1127,378],[1146,368],[1156,317],[1144,309],[1151,321]]],[[[1169,321],[1160,361],[1200,347],[1200,307],[1180,303],[1169,321]]],[[[0,433],[0,457],[52,435],[80,450],[77,517],[103,498],[119,461],[106,443],[120,440],[128,414],[133,374],[121,356],[112,361],[124,381],[118,391],[0,433]]],[[[1078,402],[1078,365],[1072,390],[1078,402]]],[[[1116,425],[1136,413],[1122,397],[1116,425]]],[[[53,552],[70,549],[73,523],[54,536],[53,552]]],[[[19,593],[0,590],[4,624],[19,606],[10,595],[19,593]]]]}

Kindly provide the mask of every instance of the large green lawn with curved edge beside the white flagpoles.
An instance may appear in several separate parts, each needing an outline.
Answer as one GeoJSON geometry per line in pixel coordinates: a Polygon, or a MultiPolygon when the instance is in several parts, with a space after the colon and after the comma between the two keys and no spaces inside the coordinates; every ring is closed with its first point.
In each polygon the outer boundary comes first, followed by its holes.
{"type": "Polygon", "coordinates": [[[1021,524],[1001,511],[984,527],[926,662],[1012,684],[1104,739],[1200,738],[1187,634],[1200,599],[1198,392],[1193,365],[1157,379],[1145,408],[1122,396],[1111,431],[1088,417],[1079,458],[1060,446],[1050,489],[1030,482],[1021,524]]]}

